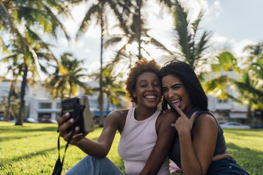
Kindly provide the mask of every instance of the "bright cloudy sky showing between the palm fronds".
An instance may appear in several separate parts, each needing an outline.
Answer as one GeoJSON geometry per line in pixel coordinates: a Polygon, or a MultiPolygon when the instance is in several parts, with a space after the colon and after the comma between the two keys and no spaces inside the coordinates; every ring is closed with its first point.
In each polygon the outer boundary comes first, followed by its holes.
{"type": "MultiPolygon", "coordinates": [[[[173,18],[167,12],[160,11],[157,2],[157,0],[148,0],[142,13],[147,16],[147,27],[151,28],[149,34],[170,49],[174,38],[173,18]]],[[[245,46],[263,40],[263,15],[260,15],[263,7],[262,0],[180,0],[180,2],[189,10],[192,19],[197,17],[201,8],[203,9],[204,17],[200,27],[212,32],[211,42],[214,48],[228,48],[238,57],[245,55],[242,52],[245,46]]],[[[88,69],[88,73],[91,73],[100,68],[100,28],[90,25],[88,31],[78,41],[74,40],[88,6],[89,4],[74,6],[71,11],[73,19],[61,18],[66,30],[73,38],[70,44],[63,36],[58,37],[57,40],[47,37],[46,40],[57,45],[52,48],[52,51],[58,58],[63,52],[71,52],[77,59],[84,61],[84,67],[88,69]]],[[[112,14],[108,13],[107,16],[110,17],[112,14]]],[[[109,24],[115,23],[113,19],[109,19],[109,24]]],[[[110,30],[110,32],[116,34],[119,31],[110,30]]],[[[148,49],[156,59],[162,54],[152,47],[148,49]]],[[[103,54],[104,62],[107,62],[114,53],[114,48],[107,49],[107,52],[103,54]]]]}

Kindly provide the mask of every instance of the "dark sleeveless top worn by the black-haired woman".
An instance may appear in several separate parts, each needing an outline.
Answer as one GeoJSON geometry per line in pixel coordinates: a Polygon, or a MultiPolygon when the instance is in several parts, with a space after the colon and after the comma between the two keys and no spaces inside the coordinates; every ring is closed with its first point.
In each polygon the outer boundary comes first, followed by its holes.
{"type": "MultiPolygon", "coordinates": [[[[186,116],[188,118],[190,118],[192,116],[192,114],[195,111],[199,111],[199,114],[197,115],[197,117],[194,119],[194,123],[192,126],[192,130],[194,128],[195,123],[197,123],[197,119],[199,118],[200,114],[210,114],[211,116],[214,117],[213,114],[211,114],[211,112],[209,111],[201,111],[198,110],[196,107],[192,108],[187,114],[186,116]]],[[[214,117],[214,119],[216,120],[216,118],[214,117]]],[[[219,125],[218,121],[216,120],[217,126],[218,126],[218,133],[217,133],[217,138],[216,138],[216,148],[214,151],[214,156],[215,155],[222,155],[222,154],[226,154],[228,153],[226,151],[226,140],[225,137],[223,136],[223,129],[221,128],[221,126],[219,125]]],[[[191,138],[193,140],[193,133],[191,131],[191,138]]],[[[169,153],[169,158],[173,160],[173,162],[175,162],[175,164],[177,164],[178,167],[181,168],[181,160],[180,160],[180,142],[179,142],[179,136],[178,133],[175,134],[175,138],[173,140],[173,145],[170,149],[170,153],[169,153]]]]}

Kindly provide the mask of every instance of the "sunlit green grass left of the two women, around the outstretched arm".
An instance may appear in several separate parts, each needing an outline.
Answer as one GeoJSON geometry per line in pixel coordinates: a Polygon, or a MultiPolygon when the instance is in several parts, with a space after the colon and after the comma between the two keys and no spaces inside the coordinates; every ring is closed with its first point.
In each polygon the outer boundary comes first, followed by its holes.
{"type": "MultiPolygon", "coordinates": [[[[88,138],[97,139],[102,128],[96,128],[88,138]]],[[[6,174],[52,174],[57,161],[57,125],[49,123],[14,123],[0,122],[0,175],[6,174]]],[[[122,159],[117,154],[119,133],[115,136],[112,149],[108,154],[117,166],[124,171],[122,159]]],[[[61,151],[64,155],[66,142],[60,138],[61,151]]],[[[75,146],[70,145],[66,150],[63,171],[74,166],[86,154],[75,146]]]]}

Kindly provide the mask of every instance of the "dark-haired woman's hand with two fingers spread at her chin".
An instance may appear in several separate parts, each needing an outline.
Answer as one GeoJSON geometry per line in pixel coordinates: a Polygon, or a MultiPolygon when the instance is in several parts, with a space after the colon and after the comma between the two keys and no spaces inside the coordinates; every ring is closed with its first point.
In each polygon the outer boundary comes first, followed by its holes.
{"type": "Polygon", "coordinates": [[[199,113],[199,111],[194,112],[192,114],[191,118],[188,119],[188,117],[185,115],[185,113],[179,108],[173,105],[173,108],[178,111],[178,113],[181,115],[178,117],[177,121],[175,123],[171,123],[170,126],[175,127],[177,130],[178,135],[189,135],[194,123],[194,119],[199,113]]]}

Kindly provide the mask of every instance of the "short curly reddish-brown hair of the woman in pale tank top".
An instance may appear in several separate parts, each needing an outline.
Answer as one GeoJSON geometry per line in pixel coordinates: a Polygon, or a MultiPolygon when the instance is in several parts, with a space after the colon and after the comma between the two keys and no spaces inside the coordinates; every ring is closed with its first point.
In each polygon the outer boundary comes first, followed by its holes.
{"type": "Polygon", "coordinates": [[[142,73],[152,72],[152,73],[156,73],[156,75],[160,79],[160,76],[158,75],[159,71],[160,71],[160,66],[154,60],[148,61],[147,59],[141,59],[139,61],[136,61],[134,66],[130,69],[128,78],[125,82],[126,90],[128,92],[129,98],[131,99],[131,102],[135,102],[135,104],[137,104],[136,97],[132,95],[132,92],[136,90],[137,78],[142,73]]]}

